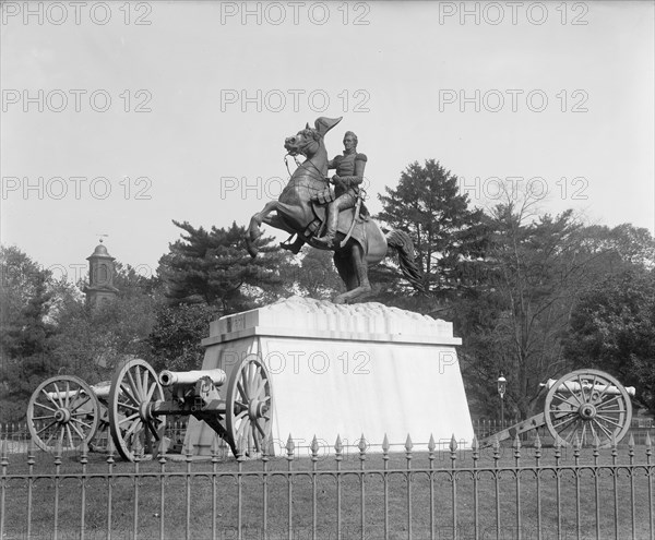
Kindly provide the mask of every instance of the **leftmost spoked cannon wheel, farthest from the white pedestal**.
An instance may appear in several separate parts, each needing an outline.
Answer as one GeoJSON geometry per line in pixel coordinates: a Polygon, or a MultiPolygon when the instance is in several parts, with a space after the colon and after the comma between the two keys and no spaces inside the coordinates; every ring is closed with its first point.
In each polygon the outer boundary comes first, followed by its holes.
{"type": "Polygon", "coordinates": [[[90,444],[99,421],[98,399],[76,376],[58,375],[38,385],[27,405],[27,429],[46,452],[80,448],[90,444]]]}

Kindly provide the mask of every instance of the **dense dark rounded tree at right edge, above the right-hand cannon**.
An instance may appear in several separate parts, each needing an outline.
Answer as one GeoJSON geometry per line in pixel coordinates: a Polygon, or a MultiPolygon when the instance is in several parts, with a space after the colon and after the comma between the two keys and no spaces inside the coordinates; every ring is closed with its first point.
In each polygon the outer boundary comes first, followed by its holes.
{"type": "Polygon", "coordinates": [[[635,267],[585,291],[564,351],[575,368],[597,368],[635,386],[634,400],[655,413],[655,271],[635,267]]]}

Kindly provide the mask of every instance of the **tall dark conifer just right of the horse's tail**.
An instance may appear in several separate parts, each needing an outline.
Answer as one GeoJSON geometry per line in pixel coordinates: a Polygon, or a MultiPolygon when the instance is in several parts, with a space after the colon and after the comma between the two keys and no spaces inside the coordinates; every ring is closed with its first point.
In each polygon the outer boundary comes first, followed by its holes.
{"type": "MultiPolygon", "coordinates": [[[[402,172],[397,188],[385,190],[386,195],[379,195],[383,211],[377,217],[410,235],[426,291],[440,300],[453,298],[466,285],[462,265],[484,253],[483,211],[468,207],[457,177],[434,159],[424,166],[413,163],[402,172]]],[[[395,272],[382,265],[376,278],[389,284],[392,275],[395,272]]],[[[398,279],[386,288],[404,296],[409,292],[398,279]]]]}

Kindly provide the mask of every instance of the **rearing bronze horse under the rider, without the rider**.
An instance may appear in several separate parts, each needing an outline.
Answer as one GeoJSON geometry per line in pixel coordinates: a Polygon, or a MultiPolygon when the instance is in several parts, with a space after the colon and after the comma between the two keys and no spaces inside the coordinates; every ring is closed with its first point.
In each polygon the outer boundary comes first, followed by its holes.
{"type": "Polygon", "coordinates": [[[317,196],[329,188],[326,179],[329,159],[323,140],[341,120],[341,117],[336,119],[321,117],[314,122],[313,129],[308,123],[296,135],[285,139],[284,147],[288,155],[295,157],[300,154],[306,157],[306,160],[294,171],[279,199],[271,201],[250,218],[246,237],[248,252],[251,256],[257,256],[254,240],[262,235],[260,230],[262,223],[285,230],[291,237],[297,235],[294,243],[282,244],[283,248],[295,253],[303,243],[318,249],[332,250],[334,264],[347,288],[347,292],[338,295],[333,301],[350,303],[370,293],[368,264],[384,259],[388,248],[391,247],[398,252],[400,266],[405,278],[417,290],[422,291],[420,269],[414,261],[414,244],[409,236],[400,230],[383,233],[376,221],[356,215],[359,214],[359,207],[348,208],[340,214],[336,242],[332,248],[315,242],[326,218],[325,205],[317,201],[317,196]],[[273,211],[275,214],[270,216],[273,211]]]}

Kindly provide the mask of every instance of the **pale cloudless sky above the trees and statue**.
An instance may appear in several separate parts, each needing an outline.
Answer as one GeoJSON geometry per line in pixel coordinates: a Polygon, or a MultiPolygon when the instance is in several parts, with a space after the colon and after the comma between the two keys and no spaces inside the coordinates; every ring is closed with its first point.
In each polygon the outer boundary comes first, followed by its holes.
{"type": "MultiPolygon", "coordinates": [[[[471,204],[655,230],[653,2],[2,2],[0,241],[75,281],[103,239],[144,275],[247,225],[284,139],[343,117],[368,205],[414,163],[471,204]],[[106,237],[104,236],[106,235],[106,237]]],[[[294,166],[289,163],[289,167],[294,166]]],[[[286,235],[274,233],[281,240],[286,235]]]]}

